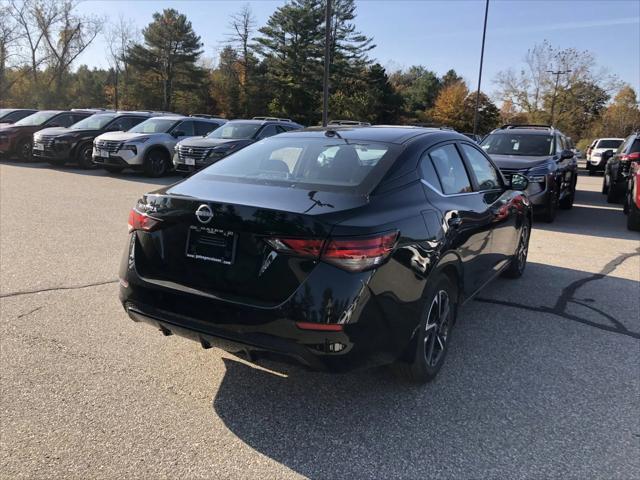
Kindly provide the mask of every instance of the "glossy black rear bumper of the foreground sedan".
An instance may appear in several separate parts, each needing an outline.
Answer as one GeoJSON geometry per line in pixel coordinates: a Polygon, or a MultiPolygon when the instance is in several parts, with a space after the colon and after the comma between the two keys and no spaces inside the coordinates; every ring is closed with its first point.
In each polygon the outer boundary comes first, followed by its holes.
{"type": "Polygon", "coordinates": [[[371,271],[353,275],[321,264],[287,300],[258,306],[142,278],[132,260],[127,251],[120,268],[120,301],[129,317],[205,348],[271,352],[314,370],[342,372],[392,363],[416,328],[402,328],[406,314],[401,308],[383,310],[388,305],[382,305],[367,286],[374,275],[371,271]],[[388,318],[388,310],[404,318],[388,318]],[[340,323],[343,330],[301,329],[296,322],[340,323]]]}

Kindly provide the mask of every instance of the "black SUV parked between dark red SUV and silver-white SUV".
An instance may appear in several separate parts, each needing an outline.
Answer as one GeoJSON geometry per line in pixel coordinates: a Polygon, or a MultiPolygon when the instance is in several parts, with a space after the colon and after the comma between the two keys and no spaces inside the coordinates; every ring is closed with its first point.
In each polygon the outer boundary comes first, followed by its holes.
{"type": "Polygon", "coordinates": [[[75,161],[82,168],[93,168],[93,140],[98,135],[127,131],[150,117],[147,112],[100,113],[70,127],[45,128],[33,135],[33,156],[52,165],[75,161]]]}

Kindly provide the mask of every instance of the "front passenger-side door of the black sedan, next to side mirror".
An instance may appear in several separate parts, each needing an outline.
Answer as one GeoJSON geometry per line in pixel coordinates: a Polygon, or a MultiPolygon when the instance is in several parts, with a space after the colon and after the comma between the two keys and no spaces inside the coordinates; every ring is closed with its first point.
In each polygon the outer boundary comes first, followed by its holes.
{"type": "Polygon", "coordinates": [[[498,271],[509,261],[519,240],[515,194],[505,187],[499,170],[482,150],[473,144],[461,143],[460,151],[471,173],[474,191],[482,195],[492,216],[489,263],[498,271]]]}

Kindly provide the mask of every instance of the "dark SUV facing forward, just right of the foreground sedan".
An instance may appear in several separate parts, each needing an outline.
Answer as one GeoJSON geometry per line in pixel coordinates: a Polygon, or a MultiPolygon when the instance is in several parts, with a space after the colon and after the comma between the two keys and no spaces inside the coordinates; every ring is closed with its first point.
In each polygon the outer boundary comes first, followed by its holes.
{"type": "Polygon", "coordinates": [[[505,177],[519,173],[529,179],[529,200],[544,221],[553,222],[558,207],[573,207],[578,161],[559,130],[549,125],[503,125],[480,146],[505,177]]]}

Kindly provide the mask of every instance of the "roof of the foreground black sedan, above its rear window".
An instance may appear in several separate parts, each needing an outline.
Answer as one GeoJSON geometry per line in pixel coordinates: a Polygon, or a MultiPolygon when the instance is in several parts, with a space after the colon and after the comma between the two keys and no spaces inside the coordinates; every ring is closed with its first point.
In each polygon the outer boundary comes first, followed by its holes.
{"type": "MultiPolygon", "coordinates": [[[[302,130],[281,133],[279,138],[286,136],[307,137],[327,137],[326,132],[336,132],[336,137],[340,135],[345,140],[383,142],[383,143],[407,143],[408,141],[423,135],[431,134],[448,134],[451,138],[469,140],[462,134],[453,130],[429,128],[429,127],[410,127],[404,125],[375,125],[375,126],[341,126],[341,127],[309,127],[302,130]]],[[[328,135],[332,136],[332,135],[328,135]]]]}

